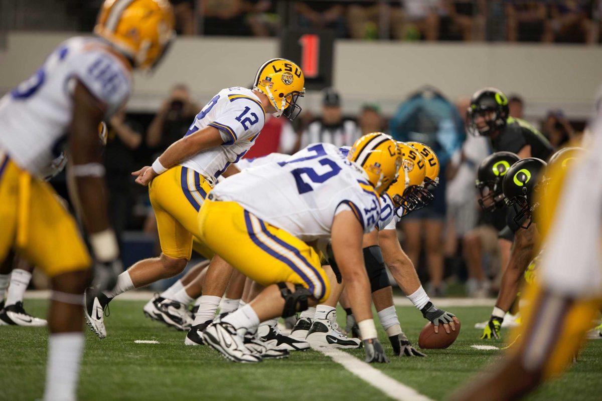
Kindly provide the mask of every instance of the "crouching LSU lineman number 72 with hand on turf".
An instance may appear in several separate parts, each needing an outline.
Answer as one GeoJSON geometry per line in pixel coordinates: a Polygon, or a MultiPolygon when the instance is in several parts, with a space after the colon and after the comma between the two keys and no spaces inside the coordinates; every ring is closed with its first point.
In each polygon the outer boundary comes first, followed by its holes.
{"type": "Polygon", "coordinates": [[[401,162],[390,136],[371,133],[356,141],[348,158],[334,145],[312,144],[284,162],[250,168],[219,183],[200,209],[200,239],[265,289],[211,323],[203,340],[232,361],[261,361],[244,346],[241,334],[328,298],[329,279],[310,244],[330,238],[366,361],[386,362],[370,310],[362,233],[377,224],[379,195],[397,179],[401,162]]]}

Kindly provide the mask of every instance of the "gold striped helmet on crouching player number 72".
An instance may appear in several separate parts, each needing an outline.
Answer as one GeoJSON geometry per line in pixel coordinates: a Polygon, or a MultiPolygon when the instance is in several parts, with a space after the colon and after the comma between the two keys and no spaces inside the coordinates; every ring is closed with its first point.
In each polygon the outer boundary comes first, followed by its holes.
{"type": "Polygon", "coordinates": [[[368,182],[379,195],[397,180],[402,154],[397,142],[382,132],[372,132],[359,138],[347,155],[367,175],[368,182]]]}

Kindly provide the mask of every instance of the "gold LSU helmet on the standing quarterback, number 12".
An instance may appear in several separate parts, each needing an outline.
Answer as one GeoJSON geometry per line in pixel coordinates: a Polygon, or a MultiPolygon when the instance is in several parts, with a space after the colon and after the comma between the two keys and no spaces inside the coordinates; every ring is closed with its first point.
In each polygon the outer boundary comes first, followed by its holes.
{"type": "Polygon", "coordinates": [[[301,112],[297,99],[305,96],[305,75],[297,64],[285,58],[273,58],[259,67],[253,82],[253,90],[270,99],[276,109],[275,117],[284,114],[294,120],[301,112]]]}

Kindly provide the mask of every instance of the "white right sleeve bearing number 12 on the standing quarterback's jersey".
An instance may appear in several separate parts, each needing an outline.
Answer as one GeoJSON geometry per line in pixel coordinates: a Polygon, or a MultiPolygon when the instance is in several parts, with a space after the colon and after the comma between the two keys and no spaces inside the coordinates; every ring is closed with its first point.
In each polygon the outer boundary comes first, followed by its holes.
{"type": "Polygon", "coordinates": [[[254,100],[237,98],[229,103],[210,126],[220,130],[224,144],[251,139],[259,134],[265,122],[261,106],[254,100]]]}

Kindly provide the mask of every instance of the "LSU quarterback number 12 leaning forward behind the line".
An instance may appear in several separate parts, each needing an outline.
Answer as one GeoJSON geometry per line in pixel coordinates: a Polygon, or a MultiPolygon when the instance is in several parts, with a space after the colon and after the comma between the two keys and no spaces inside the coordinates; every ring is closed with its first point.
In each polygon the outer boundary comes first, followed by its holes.
{"type": "MultiPolygon", "coordinates": [[[[305,94],[303,72],[284,58],[266,61],[259,67],[253,90],[225,88],[196,115],[184,137],[170,145],[152,166],[132,173],[135,182],[149,186],[151,205],[157,217],[161,255],[135,263],[119,275],[114,290],[86,296],[86,318],[92,331],[104,338],[107,331],[102,311],[115,296],[163,278],[173,277],[190,260],[193,236],[199,238],[197,215],[217,178],[236,174],[232,167],[253,145],[265,123],[265,113],[293,120],[301,108],[297,99],[305,94]]],[[[214,256],[205,275],[203,295],[193,325],[214,317],[228,286],[232,268],[214,256]]],[[[179,292],[180,304],[193,299],[179,292]]],[[[181,305],[165,305],[173,315],[185,314],[181,305]]]]}

